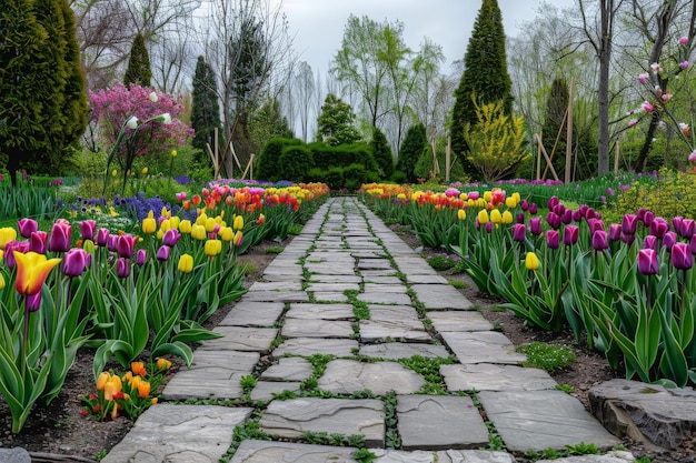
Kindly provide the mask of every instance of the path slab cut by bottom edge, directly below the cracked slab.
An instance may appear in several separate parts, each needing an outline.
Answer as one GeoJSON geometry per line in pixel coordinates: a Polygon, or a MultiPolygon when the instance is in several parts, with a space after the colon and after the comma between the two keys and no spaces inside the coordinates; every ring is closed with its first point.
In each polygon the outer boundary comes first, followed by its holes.
{"type": "Polygon", "coordinates": [[[230,463],[355,463],[350,456],[355,451],[355,447],[245,440],[230,463]]]}

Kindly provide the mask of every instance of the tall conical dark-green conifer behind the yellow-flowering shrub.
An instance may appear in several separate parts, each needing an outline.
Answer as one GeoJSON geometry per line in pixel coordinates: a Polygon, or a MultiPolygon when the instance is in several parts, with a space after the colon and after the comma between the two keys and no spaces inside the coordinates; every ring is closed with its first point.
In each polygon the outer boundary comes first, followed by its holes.
{"type": "Polygon", "coordinates": [[[451,145],[466,172],[476,174],[476,165],[467,159],[468,147],[464,138],[465,125],[477,123],[473,99],[479,105],[503,101],[505,113],[510,114],[513,111],[513,83],[507,72],[505,30],[497,0],[483,0],[464,64],[465,71],[455,91],[451,145]]]}

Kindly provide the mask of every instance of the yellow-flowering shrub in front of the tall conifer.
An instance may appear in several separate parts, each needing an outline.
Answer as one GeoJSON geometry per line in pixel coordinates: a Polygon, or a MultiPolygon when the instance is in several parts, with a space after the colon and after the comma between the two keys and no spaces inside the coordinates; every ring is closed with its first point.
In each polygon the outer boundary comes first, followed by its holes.
{"type": "Polygon", "coordinates": [[[473,102],[478,121],[475,124],[467,122],[464,128],[468,161],[487,182],[514,177],[529,158],[524,118],[508,115],[503,101],[479,104],[473,97],[473,102]]]}

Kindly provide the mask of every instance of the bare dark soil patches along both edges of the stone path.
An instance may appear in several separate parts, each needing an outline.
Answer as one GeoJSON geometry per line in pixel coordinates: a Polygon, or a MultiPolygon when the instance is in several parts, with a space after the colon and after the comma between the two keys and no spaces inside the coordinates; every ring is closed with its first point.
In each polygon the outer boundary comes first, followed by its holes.
{"type": "MultiPolygon", "coordinates": [[[[408,229],[395,230],[400,238],[414,249],[418,249],[425,258],[439,252],[438,250],[421,249],[418,238],[408,229]]],[[[264,242],[240,256],[240,263],[248,264],[249,271],[245,278],[245,285],[249,286],[258,280],[264,269],[275,259],[275,253],[267,253],[267,249],[284,246],[284,243],[264,242]]],[[[459,291],[478,305],[481,314],[496,324],[516,345],[528,344],[533,341],[543,341],[556,345],[567,345],[573,349],[577,362],[567,369],[551,372],[551,376],[559,384],[573,386],[574,394],[587,406],[587,392],[593,386],[610,380],[623,378],[623,372],[613,371],[604,356],[577,344],[570,332],[549,333],[527,326],[509,311],[496,310],[499,300],[478,292],[468,275],[439,272],[450,281],[466,283],[459,291]]],[[[207,324],[213,328],[231,309],[219,310],[207,324]]],[[[92,359],[93,352],[81,350],[74,365],[70,370],[64,387],[60,395],[50,404],[37,404],[19,434],[11,433],[11,417],[9,410],[0,397],[0,447],[21,446],[32,454],[33,462],[96,462],[100,454],[106,454],[132,427],[132,422],[126,417],[116,421],[98,422],[83,417],[81,399],[92,391],[92,359]]],[[[116,366],[116,365],[113,365],[116,366]]],[[[181,362],[173,363],[170,375],[176,373],[181,362]]],[[[694,462],[694,440],[686,442],[683,449],[676,452],[655,454],[647,452],[642,445],[625,440],[625,447],[636,457],[649,456],[653,463],[689,463],[694,462]]],[[[518,461],[525,461],[524,456],[518,461]]]]}

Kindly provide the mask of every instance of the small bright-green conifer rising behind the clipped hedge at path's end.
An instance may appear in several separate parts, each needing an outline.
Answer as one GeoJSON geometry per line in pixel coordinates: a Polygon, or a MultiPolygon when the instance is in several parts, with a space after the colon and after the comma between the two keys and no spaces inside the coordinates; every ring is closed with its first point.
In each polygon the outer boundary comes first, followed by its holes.
{"type": "Polygon", "coordinates": [[[356,114],[350,104],[329,93],[324,100],[321,114],[317,119],[317,141],[331,147],[344,143],[355,143],[361,137],[355,128],[356,114]]]}

